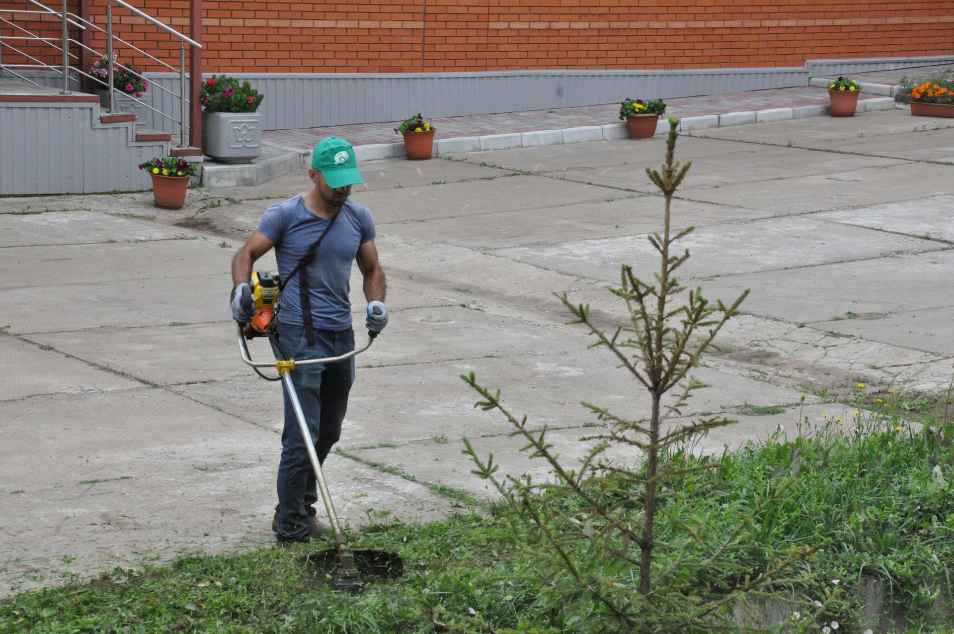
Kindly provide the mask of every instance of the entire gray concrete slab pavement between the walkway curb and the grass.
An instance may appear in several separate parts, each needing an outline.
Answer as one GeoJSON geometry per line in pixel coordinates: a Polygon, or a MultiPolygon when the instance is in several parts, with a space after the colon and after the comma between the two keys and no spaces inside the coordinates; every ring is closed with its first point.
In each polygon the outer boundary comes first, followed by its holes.
{"type": "MultiPolygon", "coordinates": [[[[794,421],[801,393],[811,407],[833,408],[811,392],[839,391],[858,376],[871,390],[948,385],[944,289],[954,249],[944,208],[954,166],[917,158],[944,156],[949,141],[945,130],[913,132],[912,118],[899,110],[680,137],[676,156],[692,154],[699,179],[674,201],[675,224],[699,226],[685,270],[710,276],[700,278],[707,297],[752,291],[747,314],[696,372],[713,387],[687,413],[784,410],[711,434],[710,450],[794,421]],[[825,145],[876,132],[894,158],[873,145],[851,154],[825,145]]],[[[374,518],[370,509],[427,518],[452,508],[455,500],[425,481],[483,492],[460,437],[507,433],[508,424],[472,408],[478,397],[462,372],[500,387],[514,412],[568,428],[552,436],[568,458],[592,422],[579,401],[647,409],[607,350],[587,349],[586,328],[565,324],[552,292],[591,304],[607,328],[624,318],[605,287],[621,260],[653,270],[642,244],[660,227],[662,200],[620,187],[634,188],[645,165],[658,165],[660,139],[459,158],[364,163],[368,186],[354,194],[378,221],[391,324],[357,361],[340,447],[419,480],[329,458],[339,512],[355,524],[374,518]],[[605,168],[616,172],[593,184],[559,180],[605,168]],[[560,259],[520,255],[531,250],[560,259]],[[566,264],[583,258],[601,263],[598,275],[566,264]]],[[[299,170],[261,187],[190,190],[179,211],[156,209],[148,192],[0,200],[0,226],[9,228],[0,247],[0,370],[20,372],[0,391],[0,497],[15,501],[0,506],[0,593],[116,563],[268,542],[280,390],[239,362],[228,264],[269,201],[306,186],[299,170]],[[28,204],[89,211],[19,214],[28,204]],[[167,239],[179,233],[197,239],[167,239]]],[[[360,319],[359,282],[356,271],[360,319]]],[[[501,451],[505,471],[526,466],[525,455],[505,451],[512,439],[481,442],[481,451],[501,451]]]]}

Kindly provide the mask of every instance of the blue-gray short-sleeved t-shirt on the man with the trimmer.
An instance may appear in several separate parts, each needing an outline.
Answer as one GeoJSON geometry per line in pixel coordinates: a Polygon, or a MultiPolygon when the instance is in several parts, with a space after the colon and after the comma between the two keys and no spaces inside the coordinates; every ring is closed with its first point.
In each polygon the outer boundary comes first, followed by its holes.
{"type": "MultiPolygon", "coordinates": [[[[259,222],[259,231],[275,243],[275,258],[281,280],[288,279],[308,247],[315,243],[331,222],[308,211],[301,194],[269,207],[259,222]]],[[[279,322],[303,326],[299,279],[307,272],[308,294],[314,328],[343,330],[351,327],[351,262],[358,247],[374,240],[371,212],[355,201],[345,201],[328,235],[321,241],[315,260],[302,266],[281,291],[279,322]]]]}

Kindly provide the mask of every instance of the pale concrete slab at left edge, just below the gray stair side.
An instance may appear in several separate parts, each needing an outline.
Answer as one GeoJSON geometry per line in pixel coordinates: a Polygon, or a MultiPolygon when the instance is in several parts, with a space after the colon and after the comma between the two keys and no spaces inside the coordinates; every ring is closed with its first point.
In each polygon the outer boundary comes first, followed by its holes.
{"type": "Polygon", "coordinates": [[[0,215],[0,247],[172,240],[186,233],[95,211],[0,215]]]}

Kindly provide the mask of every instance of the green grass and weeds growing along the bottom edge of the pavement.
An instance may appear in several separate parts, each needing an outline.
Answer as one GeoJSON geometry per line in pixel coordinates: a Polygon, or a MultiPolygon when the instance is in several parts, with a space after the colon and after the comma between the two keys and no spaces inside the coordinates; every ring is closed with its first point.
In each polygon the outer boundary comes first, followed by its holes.
{"type": "MultiPolygon", "coordinates": [[[[724,469],[675,486],[667,514],[694,525],[701,519],[712,534],[699,537],[716,542],[773,482],[792,478],[782,499],[747,529],[752,547],[741,551],[738,566],[757,572],[770,565],[763,558],[769,547],[827,540],[824,552],[804,566],[809,581],[796,584],[798,599],[823,600],[812,616],[818,623],[837,620],[848,632],[870,626],[861,623],[854,597],[861,579],[873,577],[886,581],[893,600],[906,608],[906,631],[949,632],[947,624],[925,624],[923,608],[932,602],[932,583],[954,575],[954,427],[935,423],[922,433],[887,416],[861,427],[856,435],[808,426],[798,436],[777,434],[726,451],[718,456],[724,469]],[[834,590],[832,579],[840,580],[834,590]]],[[[670,457],[688,464],[709,459],[670,457]]],[[[452,487],[428,486],[464,504],[475,501],[452,487]]],[[[586,592],[568,590],[558,562],[528,556],[499,505],[482,508],[482,515],[423,524],[403,523],[385,508],[370,512],[372,522],[350,532],[348,543],[397,553],[404,576],[372,581],[359,595],[328,591],[302,565],[302,555],[331,546],[322,541],[184,557],[141,571],[117,568],[90,583],[24,592],[0,602],[0,632],[619,631],[606,627],[605,609],[586,592]]],[[[638,517],[639,509],[632,513],[638,517]]],[[[679,544],[672,557],[702,556],[672,520],[659,520],[657,539],[679,544]]],[[[567,544],[578,563],[592,561],[587,542],[567,544]]],[[[608,576],[618,576],[624,565],[607,556],[596,561],[608,576]]],[[[726,574],[713,570],[706,581],[733,582],[726,574]]]]}

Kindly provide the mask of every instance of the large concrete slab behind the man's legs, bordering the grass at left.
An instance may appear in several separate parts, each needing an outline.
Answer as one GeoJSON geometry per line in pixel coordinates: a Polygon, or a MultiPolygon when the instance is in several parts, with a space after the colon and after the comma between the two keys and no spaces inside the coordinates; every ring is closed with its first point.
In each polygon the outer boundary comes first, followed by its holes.
{"type": "MultiPolygon", "coordinates": [[[[279,454],[277,434],[163,390],[8,403],[2,495],[45,501],[0,508],[0,547],[18,555],[0,575],[0,593],[73,571],[265,545],[279,454]],[[24,459],[46,467],[24,470],[24,459]]],[[[345,523],[385,509],[415,520],[450,508],[420,484],[352,460],[331,456],[326,466],[345,523]]]]}

